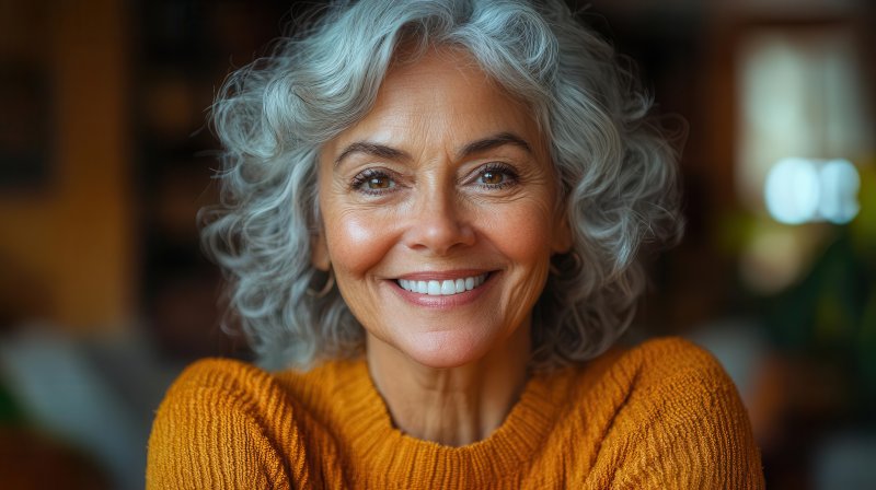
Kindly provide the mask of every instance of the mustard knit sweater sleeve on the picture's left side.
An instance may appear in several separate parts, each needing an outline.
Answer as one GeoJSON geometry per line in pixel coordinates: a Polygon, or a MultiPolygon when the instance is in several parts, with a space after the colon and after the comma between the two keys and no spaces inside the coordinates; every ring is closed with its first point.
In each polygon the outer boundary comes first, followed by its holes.
{"type": "Polygon", "coordinates": [[[280,435],[269,422],[283,411],[274,392],[266,373],[243,363],[189,366],[155,413],[146,487],[288,489],[292,480],[307,481],[303,455],[284,458],[278,450],[301,445],[293,423],[280,435]]]}

